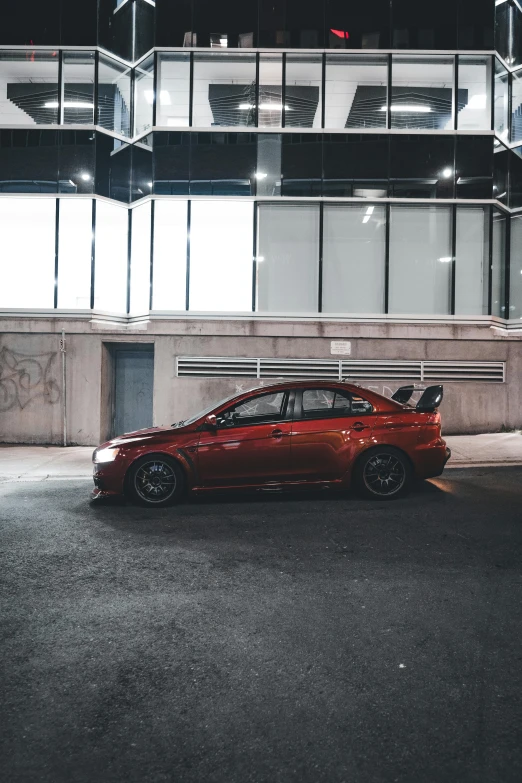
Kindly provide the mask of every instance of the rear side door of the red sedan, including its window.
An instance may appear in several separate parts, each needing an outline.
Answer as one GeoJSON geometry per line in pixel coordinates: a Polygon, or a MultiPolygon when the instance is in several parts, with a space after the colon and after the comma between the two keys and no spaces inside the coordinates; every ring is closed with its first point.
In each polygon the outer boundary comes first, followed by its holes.
{"type": "Polygon", "coordinates": [[[348,391],[297,391],[291,438],[295,480],[341,480],[369,445],[375,418],[371,403],[348,391]]]}

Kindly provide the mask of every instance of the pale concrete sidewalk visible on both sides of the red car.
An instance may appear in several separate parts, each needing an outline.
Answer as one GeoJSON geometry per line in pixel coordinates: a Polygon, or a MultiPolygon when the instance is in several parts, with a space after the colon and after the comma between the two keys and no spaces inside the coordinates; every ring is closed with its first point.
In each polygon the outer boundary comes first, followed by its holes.
{"type": "MultiPolygon", "coordinates": [[[[522,433],[448,435],[451,449],[446,468],[522,465],[522,433]]],[[[89,479],[92,446],[2,446],[0,482],[89,479]]]]}

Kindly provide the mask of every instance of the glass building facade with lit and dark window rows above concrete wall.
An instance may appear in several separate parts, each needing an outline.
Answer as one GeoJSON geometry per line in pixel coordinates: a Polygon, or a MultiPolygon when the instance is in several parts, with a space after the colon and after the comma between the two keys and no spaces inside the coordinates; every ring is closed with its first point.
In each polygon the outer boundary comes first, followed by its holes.
{"type": "Polygon", "coordinates": [[[29,5],[1,308],[522,318],[516,0],[29,5]]]}

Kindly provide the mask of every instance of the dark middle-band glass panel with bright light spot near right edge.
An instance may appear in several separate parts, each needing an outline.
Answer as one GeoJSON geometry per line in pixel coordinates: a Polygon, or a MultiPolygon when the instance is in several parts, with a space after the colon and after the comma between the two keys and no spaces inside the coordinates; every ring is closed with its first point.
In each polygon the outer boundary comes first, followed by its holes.
{"type": "Polygon", "coordinates": [[[392,136],[391,195],[402,198],[453,197],[453,145],[448,136],[392,136]]]}

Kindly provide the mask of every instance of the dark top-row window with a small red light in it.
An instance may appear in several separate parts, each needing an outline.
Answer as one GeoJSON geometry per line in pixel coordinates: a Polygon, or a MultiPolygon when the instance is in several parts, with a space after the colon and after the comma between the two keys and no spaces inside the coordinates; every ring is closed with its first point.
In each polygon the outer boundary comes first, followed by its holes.
{"type": "Polygon", "coordinates": [[[326,0],[325,30],[328,49],[386,49],[390,45],[389,0],[358,4],[326,0]]]}

